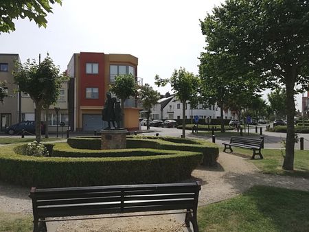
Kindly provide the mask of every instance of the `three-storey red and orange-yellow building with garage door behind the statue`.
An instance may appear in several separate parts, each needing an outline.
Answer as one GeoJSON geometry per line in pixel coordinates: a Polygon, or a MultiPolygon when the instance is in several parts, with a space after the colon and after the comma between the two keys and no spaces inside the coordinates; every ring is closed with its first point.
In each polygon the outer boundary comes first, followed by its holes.
{"type": "MultiPolygon", "coordinates": [[[[93,131],[106,127],[102,108],[108,86],[115,77],[131,73],[137,77],[138,58],[130,54],[80,52],[73,54],[67,65],[69,80],[69,126],[71,130],[93,131]]],[[[136,78],[136,81],[140,81],[136,78]]],[[[124,102],[124,127],[139,128],[140,104],[135,99],[124,102]]]]}

